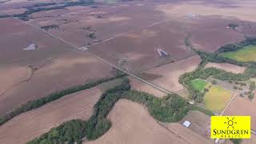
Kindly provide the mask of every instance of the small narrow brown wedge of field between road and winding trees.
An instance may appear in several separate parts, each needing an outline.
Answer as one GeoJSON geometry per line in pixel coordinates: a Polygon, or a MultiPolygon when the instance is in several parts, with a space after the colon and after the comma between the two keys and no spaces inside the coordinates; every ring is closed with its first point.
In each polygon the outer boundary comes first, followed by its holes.
{"type": "Polygon", "coordinates": [[[146,84],[145,82],[141,82],[138,79],[132,78],[132,77],[129,77],[129,79],[130,79],[130,86],[134,90],[144,91],[146,93],[153,94],[154,96],[159,98],[166,96],[166,93],[153,88],[152,86],[146,84]]]}

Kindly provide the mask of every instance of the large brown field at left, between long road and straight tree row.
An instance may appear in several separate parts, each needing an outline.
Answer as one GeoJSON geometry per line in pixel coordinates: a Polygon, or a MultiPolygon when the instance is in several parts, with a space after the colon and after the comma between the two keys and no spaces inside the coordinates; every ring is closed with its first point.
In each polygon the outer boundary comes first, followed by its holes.
{"type": "Polygon", "coordinates": [[[105,63],[17,20],[2,18],[0,25],[0,79],[10,80],[1,81],[0,115],[56,90],[112,75],[105,63]],[[30,43],[36,50],[23,50],[30,43]]]}

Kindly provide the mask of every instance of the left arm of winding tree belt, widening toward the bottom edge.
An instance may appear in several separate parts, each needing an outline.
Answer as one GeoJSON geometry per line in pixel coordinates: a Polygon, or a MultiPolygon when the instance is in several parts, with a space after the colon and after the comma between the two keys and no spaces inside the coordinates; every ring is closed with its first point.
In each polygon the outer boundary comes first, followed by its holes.
{"type": "Polygon", "coordinates": [[[122,83],[106,90],[94,105],[94,114],[87,121],[79,119],[62,123],[62,125],[42,134],[39,138],[27,142],[28,144],[57,144],[57,143],[82,143],[82,138],[96,139],[109,130],[111,123],[106,119],[114,103],[121,98],[122,93],[130,90],[129,80],[124,78],[122,83]]]}

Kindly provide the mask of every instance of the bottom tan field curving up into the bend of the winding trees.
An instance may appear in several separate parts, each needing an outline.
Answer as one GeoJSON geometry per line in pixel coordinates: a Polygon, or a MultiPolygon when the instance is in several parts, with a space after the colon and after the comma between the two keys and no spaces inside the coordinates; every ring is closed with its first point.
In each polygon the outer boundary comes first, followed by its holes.
{"type": "MultiPolygon", "coordinates": [[[[110,130],[88,144],[96,143],[207,143],[208,141],[179,124],[170,124],[178,132],[167,130],[148,114],[143,106],[128,100],[118,101],[108,115],[110,130]],[[188,138],[188,136],[190,137],[188,138]],[[202,140],[202,142],[200,142],[202,140]]],[[[209,142],[208,142],[209,143],[209,142]]]]}

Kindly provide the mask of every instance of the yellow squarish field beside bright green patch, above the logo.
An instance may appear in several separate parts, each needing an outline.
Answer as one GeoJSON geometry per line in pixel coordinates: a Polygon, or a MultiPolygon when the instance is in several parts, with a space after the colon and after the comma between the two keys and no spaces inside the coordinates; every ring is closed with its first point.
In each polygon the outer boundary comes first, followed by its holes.
{"type": "Polygon", "coordinates": [[[209,92],[206,92],[203,102],[210,110],[221,113],[226,104],[230,102],[231,97],[232,93],[230,90],[220,86],[211,86],[209,92]]]}

